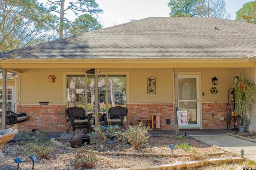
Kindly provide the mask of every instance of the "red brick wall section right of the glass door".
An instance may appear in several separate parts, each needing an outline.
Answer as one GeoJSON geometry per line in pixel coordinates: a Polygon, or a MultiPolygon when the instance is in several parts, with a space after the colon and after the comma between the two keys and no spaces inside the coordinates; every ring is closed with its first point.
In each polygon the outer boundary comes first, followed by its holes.
{"type": "Polygon", "coordinates": [[[227,104],[226,103],[203,103],[202,104],[203,129],[226,129],[227,128],[227,104]],[[212,116],[214,114],[214,117],[212,116]],[[224,121],[220,117],[224,117],[224,121]]]}

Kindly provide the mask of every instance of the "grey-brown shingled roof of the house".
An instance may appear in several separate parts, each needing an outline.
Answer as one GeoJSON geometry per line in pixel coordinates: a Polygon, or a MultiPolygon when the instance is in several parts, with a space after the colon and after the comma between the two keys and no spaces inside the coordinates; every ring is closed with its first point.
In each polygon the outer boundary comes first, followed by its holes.
{"type": "MultiPolygon", "coordinates": [[[[30,49],[16,58],[241,58],[256,49],[256,24],[217,18],[150,17],[26,50],[30,49]]],[[[0,58],[12,52],[2,53],[0,58]]]]}

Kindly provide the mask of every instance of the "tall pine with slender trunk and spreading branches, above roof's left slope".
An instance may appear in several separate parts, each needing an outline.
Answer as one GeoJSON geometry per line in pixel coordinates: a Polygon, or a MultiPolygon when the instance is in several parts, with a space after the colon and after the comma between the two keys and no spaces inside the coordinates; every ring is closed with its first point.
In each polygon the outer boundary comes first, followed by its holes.
{"type": "Polygon", "coordinates": [[[67,8],[64,7],[65,0],[47,1],[46,6],[50,6],[50,11],[56,12],[59,15],[57,18],[58,24],[56,25],[56,31],[58,32],[60,38],[66,37],[69,34],[68,27],[75,24],[74,21],[70,21],[65,17],[65,14],[68,11],[74,12],[76,16],[79,15],[79,12],[88,12],[96,15],[99,12],[102,12],[95,0],[76,0],[75,2],[69,2],[69,6],[67,8]]]}

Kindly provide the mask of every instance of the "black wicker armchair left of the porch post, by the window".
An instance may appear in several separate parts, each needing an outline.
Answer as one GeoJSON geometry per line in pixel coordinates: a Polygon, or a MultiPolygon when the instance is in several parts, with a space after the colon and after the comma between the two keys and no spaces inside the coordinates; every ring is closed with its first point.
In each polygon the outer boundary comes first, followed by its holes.
{"type": "MultiPolygon", "coordinates": [[[[85,110],[82,107],[69,107],[65,110],[66,116],[70,120],[70,127],[72,126],[73,131],[75,129],[87,128],[90,129],[91,114],[85,115],[85,110]]],[[[70,129],[68,128],[68,130],[70,129]]]]}

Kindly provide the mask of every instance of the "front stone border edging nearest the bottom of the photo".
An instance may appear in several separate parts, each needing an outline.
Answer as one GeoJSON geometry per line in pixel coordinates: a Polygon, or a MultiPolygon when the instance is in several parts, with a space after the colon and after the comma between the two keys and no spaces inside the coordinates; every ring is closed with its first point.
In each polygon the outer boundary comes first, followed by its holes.
{"type": "Polygon", "coordinates": [[[180,170],[183,168],[192,169],[203,167],[208,164],[221,164],[221,163],[233,163],[233,162],[243,162],[244,158],[218,158],[210,159],[204,161],[190,161],[185,163],[174,163],[174,164],[165,164],[158,166],[140,166],[140,167],[131,167],[131,168],[119,168],[116,170],[180,170]]]}

